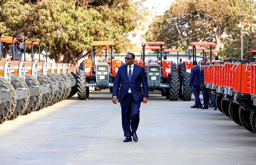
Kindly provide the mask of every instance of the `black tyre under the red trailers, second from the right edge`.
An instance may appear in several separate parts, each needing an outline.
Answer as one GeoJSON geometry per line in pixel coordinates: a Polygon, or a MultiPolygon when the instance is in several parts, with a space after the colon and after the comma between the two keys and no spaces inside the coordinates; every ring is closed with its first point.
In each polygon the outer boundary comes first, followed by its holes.
{"type": "Polygon", "coordinates": [[[242,108],[242,106],[239,107],[239,119],[245,127],[250,132],[255,133],[255,131],[252,129],[251,121],[250,121],[251,111],[246,111],[242,108]]]}

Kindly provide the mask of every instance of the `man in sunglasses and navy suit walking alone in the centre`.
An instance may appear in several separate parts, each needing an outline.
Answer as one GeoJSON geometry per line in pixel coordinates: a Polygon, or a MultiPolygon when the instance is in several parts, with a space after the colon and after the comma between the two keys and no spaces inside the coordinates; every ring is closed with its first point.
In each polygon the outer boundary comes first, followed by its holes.
{"type": "Polygon", "coordinates": [[[131,135],[134,141],[138,141],[136,131],[139,125],[139,108],[141,102],[146,104],[148,100],[148,82],[144,68],[134,64],[134,59],[133,53],[126,55],[126,65],[119,67],[113,84],[112,102],[114,104],[117,104],[117,101],[120,102],[122,109],[122,126],[125,136],[123,142],[132,141],[131,135]]]}

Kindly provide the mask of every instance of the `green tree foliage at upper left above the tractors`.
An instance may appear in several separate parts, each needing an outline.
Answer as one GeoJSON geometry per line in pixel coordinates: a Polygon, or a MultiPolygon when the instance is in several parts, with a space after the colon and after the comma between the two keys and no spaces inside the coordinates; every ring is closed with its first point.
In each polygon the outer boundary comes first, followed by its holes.
{"type": "Polygon", "coordinates": [[[16,31],[28,40],[41,40],[56,62],[62,56],[63,62],[76,62],[97,40],[114,41],[115,52],[120,52],[129,43],[126,34],[141,18],[134,11],[134,5],[140,4],[130,0],[2,0],[0,4],[0,32],[12,36],[16,31]]]}

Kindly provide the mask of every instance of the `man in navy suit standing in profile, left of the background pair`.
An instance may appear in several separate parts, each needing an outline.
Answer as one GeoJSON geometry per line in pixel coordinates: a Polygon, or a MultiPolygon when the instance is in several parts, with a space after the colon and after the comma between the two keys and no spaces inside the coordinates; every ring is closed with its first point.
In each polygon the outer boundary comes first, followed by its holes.
{"type": "Polygon", "coordinates": [[[191,106],[191,108],[201,108],[203,107],[201,101],[199,99],[200,94],[200,82],[199,82],[199,72],[200,68],[197,66],[197,62],[193,61],[194,67],[191,69],[191,75],[189,79],[189,86],[193,86],[193,92],[195,96],[195,105],[191,106]]]}

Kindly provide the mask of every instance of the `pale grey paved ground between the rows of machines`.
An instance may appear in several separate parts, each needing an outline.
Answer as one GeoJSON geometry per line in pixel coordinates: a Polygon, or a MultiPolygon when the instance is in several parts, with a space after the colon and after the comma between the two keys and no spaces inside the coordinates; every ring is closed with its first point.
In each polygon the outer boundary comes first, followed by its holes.
{"type": "Polygon", "coordinates": [[[151,93],[138,142],[124,143],[120,104],[108,90],[74,96],[0,125],[1,165],[256,164],[256,134],[212,108],[151,93]]]}

